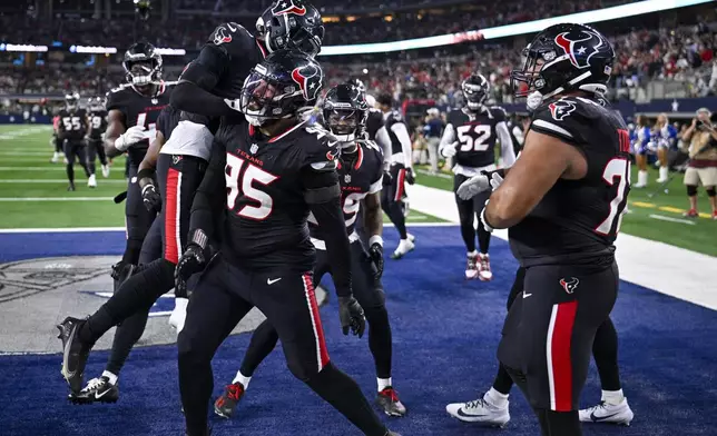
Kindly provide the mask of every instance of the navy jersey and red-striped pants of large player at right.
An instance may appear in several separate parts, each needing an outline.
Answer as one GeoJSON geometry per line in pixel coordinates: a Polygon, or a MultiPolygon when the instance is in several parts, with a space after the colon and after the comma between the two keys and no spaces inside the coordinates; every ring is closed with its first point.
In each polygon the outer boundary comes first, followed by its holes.
{"type": "Polygon", "coordinates": [[[570,412],[578,408],[596,330],[617,297],[613,242],[629,191],[629,140],[618,115],[579,97],[543,103],[530,129],[577,147],[588,171],[580,180],[558,179],[509,229],[526,278],[498,355],[527,377],[533,407],[570,412]]]}

